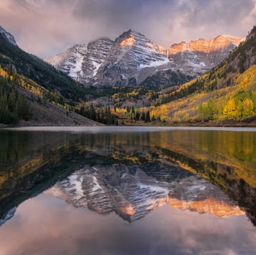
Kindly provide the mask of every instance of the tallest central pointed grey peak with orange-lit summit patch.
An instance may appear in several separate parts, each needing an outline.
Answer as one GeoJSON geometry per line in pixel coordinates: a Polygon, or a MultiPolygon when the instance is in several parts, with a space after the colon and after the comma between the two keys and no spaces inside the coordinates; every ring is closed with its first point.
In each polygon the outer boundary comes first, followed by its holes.
{"type": "Polygon", "coordinates": [[[107,63],[95,76],[95,85],[137,85],[148,75],[145,68],[169,63],[166,50],[134,31],[119,36],[111,50],[107,63]]]}

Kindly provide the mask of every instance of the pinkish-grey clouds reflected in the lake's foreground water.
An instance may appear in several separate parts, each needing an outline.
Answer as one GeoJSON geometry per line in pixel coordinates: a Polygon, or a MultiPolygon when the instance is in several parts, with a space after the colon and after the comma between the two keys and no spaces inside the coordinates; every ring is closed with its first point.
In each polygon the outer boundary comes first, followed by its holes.
{"type": "Polygon", "coordinates": [[[2,254],[254,254],[245,216],[220,219],[164,206],[132,224],[40,195],[0,228],[2,254]]]}

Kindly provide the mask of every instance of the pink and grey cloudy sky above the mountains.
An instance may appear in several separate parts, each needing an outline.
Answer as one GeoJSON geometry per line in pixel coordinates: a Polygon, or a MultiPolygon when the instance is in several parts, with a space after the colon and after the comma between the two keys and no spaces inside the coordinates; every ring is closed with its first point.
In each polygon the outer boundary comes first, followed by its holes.
{"type": "Polygon", "coordinates": [[[23,50],[46,58],[131,28],[165,48],[181,40],[245,37],[256,0],[1,0],[0,25],[23,50]]]}

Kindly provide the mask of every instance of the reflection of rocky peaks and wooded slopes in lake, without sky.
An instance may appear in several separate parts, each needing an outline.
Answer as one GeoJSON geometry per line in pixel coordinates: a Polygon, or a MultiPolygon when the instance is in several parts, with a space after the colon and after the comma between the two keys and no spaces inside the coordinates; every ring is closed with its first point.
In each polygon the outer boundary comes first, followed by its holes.
{"type": "Polygon", "coordinates": [[[230,134],[1,132],[0,217],[55,184],[48,194],[129,222],[168,203],[219,217],[238,205],[255,223],[255,134],[230,134]],[[234,143],[242,156],[222,148],[234,143]]]}

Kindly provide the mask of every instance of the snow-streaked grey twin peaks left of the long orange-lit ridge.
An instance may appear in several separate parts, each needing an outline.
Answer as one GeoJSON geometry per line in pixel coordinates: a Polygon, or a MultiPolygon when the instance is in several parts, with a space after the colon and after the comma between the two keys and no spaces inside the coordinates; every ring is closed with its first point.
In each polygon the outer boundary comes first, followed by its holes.
{"type": "Polygon", "coordinates": [[[114,41],[100,38],[89,43],[83,48],[82,65],[78,58],[75,66],[70,60],[73,48],[46,61],[85,85],[134,85],[144,80],[146,74],[142,70],[146,67],[156,70],[169,62],[164,48],[131,30],[114,41]]]}

